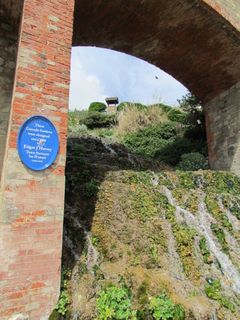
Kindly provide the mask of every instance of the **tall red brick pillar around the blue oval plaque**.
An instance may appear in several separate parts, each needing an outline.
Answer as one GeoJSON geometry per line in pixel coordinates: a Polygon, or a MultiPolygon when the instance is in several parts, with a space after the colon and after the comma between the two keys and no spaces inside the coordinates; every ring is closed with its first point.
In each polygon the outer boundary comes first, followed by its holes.
{"type": "Polygon", "coordinates": [[[1,186],[0,319],[48,319],[59,295],[74,0],[25,0],[1,186]],[[60,152],[27,169],[17,134],[31,115],[56,126],[60,152]],[[14,318],[15,319],[15,318],[14,318]]]}

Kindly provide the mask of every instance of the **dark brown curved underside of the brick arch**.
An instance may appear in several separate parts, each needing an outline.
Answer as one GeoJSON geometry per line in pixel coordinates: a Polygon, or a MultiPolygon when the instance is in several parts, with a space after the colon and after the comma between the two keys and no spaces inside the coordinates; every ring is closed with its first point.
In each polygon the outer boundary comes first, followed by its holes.
{"type": "Polygon", "coordinates": [[[142,58],[174,76],[203,102],[240,81],[239,34],[202,0],[75,4],[73,46],[98,46],[142,58]]]}

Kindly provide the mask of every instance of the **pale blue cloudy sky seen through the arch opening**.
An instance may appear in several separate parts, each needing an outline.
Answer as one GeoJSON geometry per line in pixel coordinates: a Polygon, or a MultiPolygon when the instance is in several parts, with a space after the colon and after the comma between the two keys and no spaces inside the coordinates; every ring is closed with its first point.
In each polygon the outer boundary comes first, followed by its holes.
{"type": "Polygon", "coordinates": [[[124,53],[95,47],[72,49],[70,109],[117,96],[119,102],[177,105],[187,89],[167,73],[124,53]]]}

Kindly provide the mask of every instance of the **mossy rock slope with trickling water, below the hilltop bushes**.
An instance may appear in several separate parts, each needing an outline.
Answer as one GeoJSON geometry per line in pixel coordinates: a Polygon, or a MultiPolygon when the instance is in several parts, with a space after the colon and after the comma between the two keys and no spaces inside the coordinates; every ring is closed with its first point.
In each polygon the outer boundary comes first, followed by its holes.
{"type": "Polygon", "coordinates": [[[164,294],[185,319],[240,319],[239,194],[230,173],[174,172],[119,145],[70,139],[64,318],[173,319],[150,307],[164,294]],[[104,318],[109,285],[128,288],[138,311],[104,318]]]}

